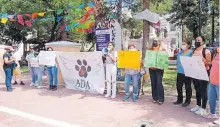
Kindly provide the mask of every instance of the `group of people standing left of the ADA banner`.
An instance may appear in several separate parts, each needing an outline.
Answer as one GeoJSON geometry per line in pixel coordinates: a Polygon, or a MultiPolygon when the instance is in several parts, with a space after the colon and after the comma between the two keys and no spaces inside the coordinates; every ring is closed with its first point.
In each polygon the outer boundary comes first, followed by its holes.
{"type": "MultiPolygon", "coordinates": [[[[58,67],[57,64],[51,66],[32,66],[31,60],[38,59],[38,52],[34,50],[34,47],[29,47],[30,52],[26,55],[28,61],[28,67],[31,72],[31,84],[37,88],[44,88],[43,75],[48,74],[49,79],[49,90],[56,91],[58,84],[58,67]]],[[[13,56],[15,49],[12,46],[5,48],[6,52],[3,55],[3,69],[5,71],[5,84],[8,92],[12,92],[12,77],[14,77],[13,85],[18,84],[17,77],[20,79],[20,84],[25,85],[21,80],[21,70],[18,60],[13,56]]],[[[56,62],[55,62],[56,63],[56,62]]]]}

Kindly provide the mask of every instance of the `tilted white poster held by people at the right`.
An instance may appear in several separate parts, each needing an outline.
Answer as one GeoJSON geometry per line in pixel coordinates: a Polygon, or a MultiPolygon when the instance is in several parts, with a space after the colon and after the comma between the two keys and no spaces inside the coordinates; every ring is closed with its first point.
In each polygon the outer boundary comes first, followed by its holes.
{"type": "Polygon", "coordinates": [[[193,56],[193,57],[181,56],[180,61],[182,63],[186,76],[195,79],[209,81],[207,70],[200,56],[193,56]]]}

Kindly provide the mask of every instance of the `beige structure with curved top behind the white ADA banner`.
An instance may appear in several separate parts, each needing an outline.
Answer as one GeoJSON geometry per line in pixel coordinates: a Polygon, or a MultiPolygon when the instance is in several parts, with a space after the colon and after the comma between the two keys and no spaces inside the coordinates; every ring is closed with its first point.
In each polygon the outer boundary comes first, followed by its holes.
{"type": "MultiPolygon", "coordinates": [[[[53,51],[62,51],[62,52],[80,52],[81,44],[68,41],[57,41],[45,44],[46,48],[52,48],[53,51]]],[[[58,84],[65,85],[61,69],[58,65],[58,84]]]]}

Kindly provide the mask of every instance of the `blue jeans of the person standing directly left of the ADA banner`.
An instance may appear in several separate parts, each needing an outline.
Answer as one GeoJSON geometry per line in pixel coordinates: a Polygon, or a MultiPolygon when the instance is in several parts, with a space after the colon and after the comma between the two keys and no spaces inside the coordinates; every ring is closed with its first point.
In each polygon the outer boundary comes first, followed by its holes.
{"type": "Polygon", "coordinates": [[[58,76],[57,76],[58,68],[56,66],[47,67],[47,70],[48,70],[50,85],[57,86],[57,84],[58,84],[58,76]]]}

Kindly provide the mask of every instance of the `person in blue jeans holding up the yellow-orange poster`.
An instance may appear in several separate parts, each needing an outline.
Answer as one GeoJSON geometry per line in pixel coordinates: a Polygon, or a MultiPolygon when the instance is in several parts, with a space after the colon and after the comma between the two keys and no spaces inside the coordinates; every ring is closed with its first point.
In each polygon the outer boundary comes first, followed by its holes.
{"type": "MultiPolygon", "coordinates": [[[[135,45],[130,44],[128,46],[129,51],[136,51],[135,45]]],[[[140,71],[134,70],[134,69],[125,69],[125,97],[123,98],[123,101],[127,101],[130,97],[130,91],[129,86],[132,80],[133,84],[133,102],[136,102],[138,99],[138,87],[139,87],[139,77],[140,77],[140,71]]]]}

